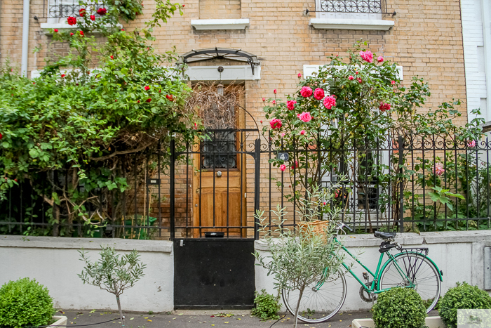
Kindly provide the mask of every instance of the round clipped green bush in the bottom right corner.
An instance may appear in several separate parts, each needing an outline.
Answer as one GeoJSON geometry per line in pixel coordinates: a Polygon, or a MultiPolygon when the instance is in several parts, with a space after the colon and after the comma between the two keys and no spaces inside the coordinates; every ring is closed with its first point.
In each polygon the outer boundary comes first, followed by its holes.
{"type": "Polygon", "coordinates": [[[490,309],[491,296],[480,290],[477,286],[471,286],[464,282],[457,287],[448,289],[445,296],[440,299],[440,317],[449,328],[457,327],[457,310],[459,308],[490,309]]]}

